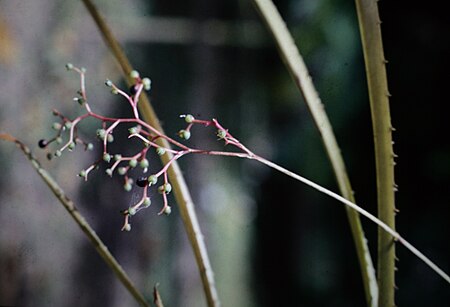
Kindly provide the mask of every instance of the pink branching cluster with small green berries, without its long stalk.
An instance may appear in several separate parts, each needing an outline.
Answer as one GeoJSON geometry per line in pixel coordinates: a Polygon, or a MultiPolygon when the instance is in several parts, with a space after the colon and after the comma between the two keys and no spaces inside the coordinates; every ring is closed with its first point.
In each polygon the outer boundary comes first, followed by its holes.
{"type": "Polygon", "coordinates": [[[51,159],[53,156],[61,156],[64,151],[72,151],[77,145],[82,145],[85,150],[92,150],[94,148],[92,143],[85,142],[79,135],[77,126],[86,118],[95,118],[101,121],[101,128],[97,129],[96,136],[102,142],[103,151],[101,157],[87,168],[80,171],[79,176],[88,180],[88,176],[91,171],[97,169],[101,163],[106,163],[108,168],[106,173],[108,176],[113,176],[115,173],[123,176],[125,191],[131,191],[133,184],[143,188],[142,197],[140,200],[123,210],[122,213],[125,217],[125,222],[122,230],[130,231],[130,217],[135,215],[142,209],[148,208],[151,205],[151,196],[149,187],[155,186],[158,182],[161,184],[158,186],[157,191],[162,195],[163,207],[159,211],[159,215],[171,213],[171,206],[168,203],[168,194],[172,191],[172,185],[168,179],[169,167],[179,158],[187,154],[208,154],[208,155],[222,155],[222,156],[235,156],[241,158],[255,159],[257,156],[252,153],[248,148],[241,144],[236,138],[234,138],[227,129],[223,128],[216,119],[212,120],[200,120],[194,118],[194,116],[180,115],[187,124],[185,129],[178,131],[178,136],[181,140],[189,140],[191,137],[191,129],[195,124],[203,125],[206,127],[213,127],[216,129],[216,135],[219,140],[225,142],[226,145],[232,145],[239,149],[239,152],[228,151],[208,151],[196,148],[188,147],[179,141],[168,137],[153,126],[149,125],[139,117],[138,103],[141,93],[151,89],[151,80],[147,77],[141,78],[137,71],[132,71],[130,77],[134,80],[134,84],[130,87],[129,93],[119,89],[111,80],[106,80],[106,86],[111,88],[111,92],[116,95],[121,95],[131,107],[132,115],[125,118],[107,117],[92,111],[91,106],[88,103],[86,87],[85,87],[85,75],[86,69],[78,68],[72,64],[66,65],[67,70],[75,71],[80,75],[81,89],[77,92],[78,96],[73,100],[78,102],[86,111],[83,115],[76,117],[73,120],[62,115],[57,110],[53,110],[53,114],[58,117],[59,121],[53,123],[52,128],[57,131],[56,135],[51,139],[42,139],[38,145],[41,148],[47,148],[47,146],[53,142],[62,145],[63,134],[67,133],[68,141],[58,148],[54,153],[48,153],[47,157],[51,159]],[[114,141],[114,131],[121,126],[126,125],[128,128],[128,138],[138,138],[142,142],[142,149],[134,155],[123,156],[120,153],[111,153],[108,149],[108,144],[114,141]],[[165,139],[173,148],[166,148],[157,143],[158,139],[165,139]],[[143,173],[148,172],[149,161],[147,159],[147,153],[149,150],[154,150],[159,156],[170,155],[168,162],[156,173],[149,176],[142,176],[134,180],[129,171],[137,166],[143,169],[143,173]]]}

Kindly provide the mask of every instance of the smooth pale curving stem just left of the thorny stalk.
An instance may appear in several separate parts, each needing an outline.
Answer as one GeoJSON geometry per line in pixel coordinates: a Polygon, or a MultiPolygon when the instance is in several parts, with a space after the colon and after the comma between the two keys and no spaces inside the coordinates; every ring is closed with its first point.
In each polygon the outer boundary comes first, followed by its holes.
{"type": "MultiPolygon", "coordinates": [[[[289,73],[305,98],[317,129],[322,136],[322,141],[325,145],[328,158],[330,159],[340,193],[346,199],[354,203],[353,190],[330,121],[314,87],[308,69],[286,24],[272,1],[253,0],[253,3],[272,33],[289,73]]],[[[377,306],[378,286],[375,278],[375,270],[361,221],[356,211],[349,208],[346,208],[346,211],[361,267],[366,301],[369,306],[377,306]]]]}

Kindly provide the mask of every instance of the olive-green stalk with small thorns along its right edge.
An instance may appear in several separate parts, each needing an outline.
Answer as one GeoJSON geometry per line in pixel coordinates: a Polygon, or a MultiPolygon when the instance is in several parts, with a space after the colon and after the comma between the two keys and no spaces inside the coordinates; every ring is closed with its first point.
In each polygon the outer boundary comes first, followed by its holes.
{"type": "MultiPolygon", "coordinates": [[[[377,1],[356,0],[372,113],[377,174],[378,217],[395,229],[395,182],[392,126],[386,60],[377,1]]],[[[381,306],[395,305],[395,245],[391,235],[378,231],[378,286],[381,306]]]]}

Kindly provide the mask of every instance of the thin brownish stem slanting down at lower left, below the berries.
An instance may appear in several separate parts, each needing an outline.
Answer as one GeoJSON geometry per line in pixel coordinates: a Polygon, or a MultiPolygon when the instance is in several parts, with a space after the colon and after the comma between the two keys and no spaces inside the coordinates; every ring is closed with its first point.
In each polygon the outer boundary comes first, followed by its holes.
{"type": "Polygon", "coordinates": [[[84,234],[88,237],[91,244],[106,262],[106,264],[113,270],[114,274],[116,274],[117,278],[122,282],[125,288],[131,293],[134,299],[141,306],[150,306],[150,304],[145,300],[144,296],[139,292],[136,286],[133,284],[131,279],[128,277],[127,273],[123,270],[122,266],[117,262],[114,256],[109,252],[106,245],[102,242],[102,240],[97,236],[95,231],[83,217],[83,215],[78,211],[75,207],[75,204],[66,196],[62,188],[58,185],[58,183],[53,179],[53,177],[41,167],[39,161],[34,157],[33,153],[30,149],[17,140],[16,138],[7,135],[0,134],[0,139],[14,142],[17,146],[22,150],[27,159],[31,162],[31,165],[36,170],[36,172],[41,176],[42,180],[47,184],[50,190],[55,194],[56,198],[61,202],[64,208],[69,212],[84,234]]]}

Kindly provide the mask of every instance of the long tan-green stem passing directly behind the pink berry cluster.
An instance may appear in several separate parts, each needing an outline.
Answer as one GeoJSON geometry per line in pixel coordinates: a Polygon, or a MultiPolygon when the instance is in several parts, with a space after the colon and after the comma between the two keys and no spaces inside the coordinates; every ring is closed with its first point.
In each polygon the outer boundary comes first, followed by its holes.
{"type": "MultiPolygon", "coordinates": [[[[123,74],[127,79],[128,85],[131,85],[133,80],[129,75],[133,68],[127,56],[123,52],[123,49],[120,47],[119,43],[115,39],[114,35],[112,34],[111,30],[105,23],[103,17],[100,15],[94,4],[90,0],[83,0],[83,3],[86,5],[86,8],[97,24],[97,27],[99,28],[103,39],[110,48],[112,54],[119,62],[123,74]]],[[[140,96],[139,111],[141,112],[144,120],[147,123],[152,125],[161,133],[164,133],[164,130],[159,123],[159,119],[150,104],[150,100],[145,93],[142,93],[140,96]]],[[[170,144],[164,138],[159,138],[157,142],[162,147],[170,148],[170,144]]],[[[166,164],[172,159],[172,157],[173,155],[170,152],[167,152],[167,154],[161,156],[161,160],[163,164],[166,164]]],[[[174,195],[180,209],[181,217],[183,219],[184,227],[186,229],[186,233],[194,251],[197,265],[199,267],[206,301],[208,303],[208,306],[220,306],[220,301],[214,281],[214,274],[209,261],[205,241],[200,230],[197,215],[195,213],[194,203],[192,201],[189,189],[186,185],[186,181],[184,180],[178,163],[172,163],[172,166],[169,168],[168,173],[173,186],[174,195]]]]}

